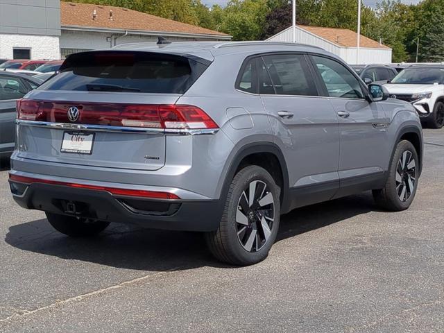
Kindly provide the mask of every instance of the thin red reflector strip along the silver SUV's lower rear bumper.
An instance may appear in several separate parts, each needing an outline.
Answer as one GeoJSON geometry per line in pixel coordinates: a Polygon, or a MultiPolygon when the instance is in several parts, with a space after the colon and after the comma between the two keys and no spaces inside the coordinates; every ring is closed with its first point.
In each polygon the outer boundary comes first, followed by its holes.
{"type": "Polygon", "coordinates": [[[9,179],[12,182],[21,182],[27,185],[31,185],[34,182],[38,182],[41,184],[50,184],[50,185],[60,185],[67,187],[75,187],[77,189],[92,189],[95,191],[107,191],[110,194],[115,196],[135,196],[140,198],[155,198],[155,199],[180,199],[176,194],[167,193],[167,192],[158,192],[158,191],[145,191],[142,189],[117,189],[115,187],[103,187],[96,185],[84,185],[84,184],[76,184],[73,182],[59,182],[56,180],[46,180],[39,178],[30,178],[24,176],[17,176],[9,174],[9,179]]]}

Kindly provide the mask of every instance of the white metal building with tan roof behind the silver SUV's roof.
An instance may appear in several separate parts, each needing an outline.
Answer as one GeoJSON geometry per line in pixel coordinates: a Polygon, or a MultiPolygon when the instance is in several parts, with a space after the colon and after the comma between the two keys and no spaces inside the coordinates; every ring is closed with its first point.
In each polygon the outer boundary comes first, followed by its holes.
{"type": "MultiPolygon", "coordinates": [[[[359,60],[357,61],[357,33],[349,29],[323,28],[319,26],[296,26],[296,42],[320,46],[336,54],[348,64],[390,64],[392,49],[361,35],[359,60]]],[[[273,42],[292,42],[292,27],[268,38],[273,42]]]]}

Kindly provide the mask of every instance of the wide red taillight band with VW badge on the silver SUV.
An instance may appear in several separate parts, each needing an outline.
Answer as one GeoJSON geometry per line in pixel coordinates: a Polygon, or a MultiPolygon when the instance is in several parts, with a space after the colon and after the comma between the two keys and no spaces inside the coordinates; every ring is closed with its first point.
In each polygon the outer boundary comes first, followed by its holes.
{"type": "Polygon", "coordinates": [[[17,119],[164,129],[219,128],[208,114],[194,105],[78,103],[20,99],[17,101],[17,119]],[[68,110],[71,110],[71,114],[68,114],[68,110]]]}

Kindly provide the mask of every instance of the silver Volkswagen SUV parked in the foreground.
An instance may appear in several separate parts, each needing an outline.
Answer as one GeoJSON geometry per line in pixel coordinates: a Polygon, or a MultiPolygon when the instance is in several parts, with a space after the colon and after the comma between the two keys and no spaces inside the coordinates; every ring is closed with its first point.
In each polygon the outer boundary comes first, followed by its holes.
{"type": "Polygon", "coordinates": [[[56,230],[110,222],[205,232],[230,264],[264,259],[280,215],[373,190],[405,210],[418,114],[322,49],[126,44],[76,53],[17,105],[10,189],[56,230]]]}

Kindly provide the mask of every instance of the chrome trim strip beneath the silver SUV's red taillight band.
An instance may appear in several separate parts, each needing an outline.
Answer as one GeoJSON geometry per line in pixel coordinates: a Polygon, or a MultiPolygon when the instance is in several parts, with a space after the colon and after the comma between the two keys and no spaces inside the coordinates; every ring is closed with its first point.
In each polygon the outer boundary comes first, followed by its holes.
{"type": "Polygon", "coordinates": [[[117,132],[117,133],[136,133],[148,135],[210,135],[219,132],[219,128],[207,128],[202,130],[194,129],[167,129],[163,128],[142,128],[142,127],[124,127],[124,126],[105,126],[92,125],[85,123],[52,123],[49,121],[33,121],[17,119],[19,126],[32,126],[43,128],[54,128],[58,130],[91,130],[94,132],[117,132]]]}

